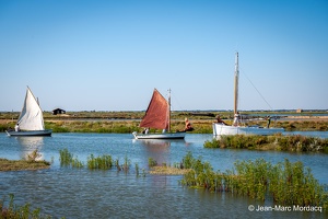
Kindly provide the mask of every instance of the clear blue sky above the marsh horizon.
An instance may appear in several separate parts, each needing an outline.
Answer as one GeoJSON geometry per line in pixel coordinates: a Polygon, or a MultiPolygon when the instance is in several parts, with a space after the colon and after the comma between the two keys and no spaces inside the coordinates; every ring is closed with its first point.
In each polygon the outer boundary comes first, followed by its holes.
{"type": "Polygon", "coordinates": [[[326,0],[0,0],[0,111],[328,108],[326,0]],[[251,83],[269,103],[263,101],[251,83]]]}

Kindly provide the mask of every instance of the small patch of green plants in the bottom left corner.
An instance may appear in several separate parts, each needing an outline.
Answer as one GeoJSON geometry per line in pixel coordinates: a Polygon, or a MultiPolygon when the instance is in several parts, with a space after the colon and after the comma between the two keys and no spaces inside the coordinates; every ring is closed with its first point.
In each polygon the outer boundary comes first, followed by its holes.
{"type": "Polygon", "coordinates": [[[14,204],[14,195],[9,195],[9,204],[5,207],[5,197],[0,200],[0,218],[21,219],[21,218],[51,218],[50,216],[40,215],[40,209],[32,209],[31,204],[17,206],[14,204]]]}

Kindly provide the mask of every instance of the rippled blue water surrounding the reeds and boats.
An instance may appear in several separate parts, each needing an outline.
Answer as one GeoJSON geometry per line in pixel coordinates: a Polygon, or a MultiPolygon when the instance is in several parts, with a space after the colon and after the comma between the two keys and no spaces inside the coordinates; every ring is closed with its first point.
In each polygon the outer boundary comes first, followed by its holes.
{"type": "MultiPolygon", "coordinates": [[[[311,132],[326,137],[327,132],[311,132]]],[[[33,208],[54,218],[325,218],[327,214],[300,211],[249,211],[248,206],[272,206],[230,194],[210,194],[179,185],[181,176],[149,175],[137,177],[134,164],[148,170],[148,159],[157,163],[181,161],[188,151],[209,161],[214,170],[233,168],[236,160],[263,158],[272,163],[302,161],[321,184],[328,184],[328,160],[325,154],[247,150],[204,149],[212,135],[187,135],[185,140],[133,140],[122,134],[54,134],[52,137],[7,137],[0,135],[0,158],[21,159],[36,148],[49,170],[0,172],[0,197],[14,194],[16,204],[31,203],[33,208]],[[61,168],[59,150],[67,148],[86,163],[90,154],[110,154],[131,161],[125,174],[61,168]]]]}

